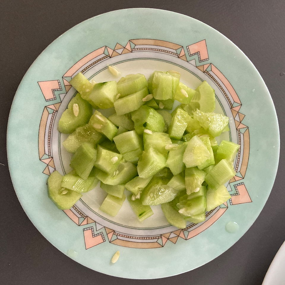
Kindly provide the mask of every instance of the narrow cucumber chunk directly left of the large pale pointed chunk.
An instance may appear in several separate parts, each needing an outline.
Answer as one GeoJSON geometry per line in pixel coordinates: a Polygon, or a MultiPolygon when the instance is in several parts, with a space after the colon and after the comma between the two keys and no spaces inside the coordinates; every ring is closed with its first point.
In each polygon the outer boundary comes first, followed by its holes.
{"type": "Polygon", "coordinates": [[[178,145],[177,149],[171,149],[168,153],[166,165],[170,168],[173,175],[176,175],[185,169],[185,164],[182,159],[186,146],[187,143],[182,142],[182,144],[178,145]]]}

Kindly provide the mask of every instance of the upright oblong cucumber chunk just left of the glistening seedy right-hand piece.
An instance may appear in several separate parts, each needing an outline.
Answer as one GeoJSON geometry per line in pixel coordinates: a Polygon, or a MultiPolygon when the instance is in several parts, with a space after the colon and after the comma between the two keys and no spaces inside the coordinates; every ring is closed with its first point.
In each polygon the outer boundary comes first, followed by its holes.
{"type": "Polygon", "coordinates": [[[168,133],[172,139],[180,140],[186,130],[190,116],[184,110],[178,108],[172,117],[168,133]]]}

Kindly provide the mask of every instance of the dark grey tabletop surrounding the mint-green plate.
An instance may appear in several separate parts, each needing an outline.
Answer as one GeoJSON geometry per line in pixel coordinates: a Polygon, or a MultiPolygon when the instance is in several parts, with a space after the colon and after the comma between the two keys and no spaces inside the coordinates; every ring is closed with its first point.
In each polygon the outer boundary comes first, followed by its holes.
{"type": "Polygon", "coordinates": [[[262,284],[285,239],[285,75],[281,76],[285,72],[284,16],[284,0],[1,0],[0,284],[262,284]],[[132,7],[172,10],[191,16],[234,42],[256,66],[270,91],[281,137],[276,181],[264,209],[248,232],[208,264],[156,280],[107,276],[78,264],[53,247],[24,213],[12,186],[6,153],[7,121],[13,97],[25,72],[42,50],[83,20],[132,7]]]}

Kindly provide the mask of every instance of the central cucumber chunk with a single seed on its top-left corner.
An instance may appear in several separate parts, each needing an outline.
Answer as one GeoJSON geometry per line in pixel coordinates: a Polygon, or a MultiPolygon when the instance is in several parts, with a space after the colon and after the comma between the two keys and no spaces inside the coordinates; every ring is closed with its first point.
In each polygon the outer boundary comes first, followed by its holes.
{"type": "Polygon", "coordinates": [[[165,149],[165,147],[168,145],[172,145],[172,142],[168,134],[160,132],[153,132],[152,134],[148,134],[144,132],[143,145],[145,151],[150,148],[154,148],[163,155],[167,155],[169,149],[165,149]]]}

